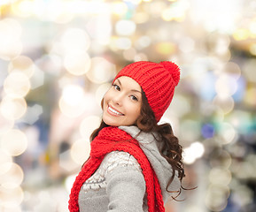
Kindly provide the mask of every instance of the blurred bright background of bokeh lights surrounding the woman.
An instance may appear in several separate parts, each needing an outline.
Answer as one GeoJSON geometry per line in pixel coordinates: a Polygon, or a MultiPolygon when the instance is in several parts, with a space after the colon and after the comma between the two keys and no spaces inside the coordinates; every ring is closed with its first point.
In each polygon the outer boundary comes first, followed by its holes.
{"type": "Polygon", "coordinates": [[[101,98],[138,60],[182,69],[162,121],[198,188],[167,211],[256,211],[255,0],[1,0],[0,211],[67,211],[101,98]]]}

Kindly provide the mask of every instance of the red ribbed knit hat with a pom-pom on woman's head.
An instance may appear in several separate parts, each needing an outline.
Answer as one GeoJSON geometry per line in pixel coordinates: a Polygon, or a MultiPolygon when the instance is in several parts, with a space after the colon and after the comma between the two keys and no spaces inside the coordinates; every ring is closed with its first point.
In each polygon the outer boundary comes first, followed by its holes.
{"type": "Polygon", "coordinates": [[[175,87],[180,80],[180,68],[169,61],[159,64],[139,61],[125,66],[115,79],[121,76],[135,79],[142,87],[151,110],[153,110],[156,120],[159,121],[173,99],[175,87]]]}

